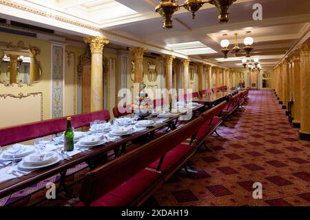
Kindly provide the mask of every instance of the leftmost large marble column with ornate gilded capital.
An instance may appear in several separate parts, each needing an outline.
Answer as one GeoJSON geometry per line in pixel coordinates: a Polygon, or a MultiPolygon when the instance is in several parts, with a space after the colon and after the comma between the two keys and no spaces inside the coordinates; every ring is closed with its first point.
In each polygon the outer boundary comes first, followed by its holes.
{"type": "Polygon", "coordinates": [[[103,109],[103,47],[109,40],[100,36],[89,36],[84,41],[90,44],[92,52],[90,111],[100,111],[103,109]]]}

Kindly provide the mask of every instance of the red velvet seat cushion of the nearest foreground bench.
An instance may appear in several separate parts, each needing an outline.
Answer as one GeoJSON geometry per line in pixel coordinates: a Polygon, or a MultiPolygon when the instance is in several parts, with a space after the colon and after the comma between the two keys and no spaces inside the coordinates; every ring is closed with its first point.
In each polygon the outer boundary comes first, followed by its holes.
{"type": "MultiPolygon", "coordinates": [[[[134,199],[152,186],[159,176],[158,172],[144,169],[121,186],[117,186],[100,199],[92,202],[91,206],[129,206],[134,199]]],[[[84,204],[79,202],[75,206],[84,206],[84,204]]]]}

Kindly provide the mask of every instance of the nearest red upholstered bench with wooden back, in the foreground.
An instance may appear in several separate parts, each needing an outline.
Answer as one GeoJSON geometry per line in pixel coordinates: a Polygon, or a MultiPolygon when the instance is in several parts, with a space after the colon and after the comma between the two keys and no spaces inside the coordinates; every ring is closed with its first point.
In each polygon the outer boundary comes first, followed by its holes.
{"type": "MultiPolygon", "coordinates": [[[[180,129],[90,171],[82,182],[81,202],[76,206],[141,205],[163,181],[161,173],[145,168],[176,149],[187,137],[194,135],[202,124],[203,118],[197,118],[180,129]]],[[[161,162],[163,164],[165,158],[161,162]]]]}

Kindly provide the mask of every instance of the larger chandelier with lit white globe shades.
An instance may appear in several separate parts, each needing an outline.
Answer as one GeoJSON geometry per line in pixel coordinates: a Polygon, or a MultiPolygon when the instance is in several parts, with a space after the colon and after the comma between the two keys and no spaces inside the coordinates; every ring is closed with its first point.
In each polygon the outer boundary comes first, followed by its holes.
{"type": "MultiPolygon", "coordinates": [[[[246,32],[246,34],[249,34],[249,33],[251,33],[251,32],[246,32]]],[[[251,36],[247,36],[245,38],[245,40],[243,41],[243,43],[245,44],[245,47],[240,48],[238,46],[238,42],[237,42],[238,34],[235,33],[234,35],[235,35],[235,46],[231,49],[232,53],[237,55],[240,50],[245,50],[245,53],[246,53],[245,56],[250,57],[251,56],[250,53],[254,49],[254,47],[251,46],[254,43],[253,38],[251,38],[251,36]]],[[[223,34],[223,36],[227,36],[227,34],[223,34]]],[[[228,48],[229,47],[229,41],[227,39],[220,41],[220,46],[222,47],[221,51],[224,54],[224,58],[228,58],[227,54],[230,51],[230,49],[228,48]]]]}

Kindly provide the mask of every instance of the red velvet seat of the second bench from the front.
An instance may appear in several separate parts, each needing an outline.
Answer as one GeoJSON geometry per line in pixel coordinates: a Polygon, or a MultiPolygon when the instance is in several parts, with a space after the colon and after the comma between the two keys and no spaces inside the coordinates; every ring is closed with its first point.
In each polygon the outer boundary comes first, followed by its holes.
{"type": "MultiPolygon", "coordinates": [[[[174,166],[174,164],[178,163],[178,161],[180,161],[180,159],[182,159],[182,157],[187,155],[187,153],[189,153],[190,151],[192,151],[192,147],[187,144],[179,144],[178,146],[173,148],[171,151],[166,153],[163,164],[161,164],[161,171],[165,172],[169,170],[169,168],[174,166]]],[[[161,158],[158,158],[155,162],[149,164],[148,167],[156,169],[160,159],[161,158]]]]}

